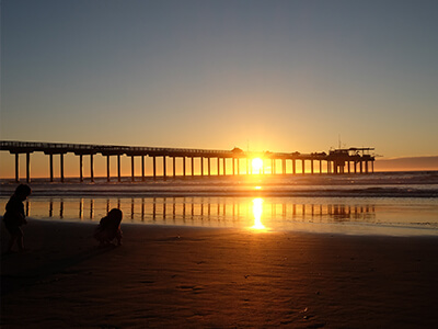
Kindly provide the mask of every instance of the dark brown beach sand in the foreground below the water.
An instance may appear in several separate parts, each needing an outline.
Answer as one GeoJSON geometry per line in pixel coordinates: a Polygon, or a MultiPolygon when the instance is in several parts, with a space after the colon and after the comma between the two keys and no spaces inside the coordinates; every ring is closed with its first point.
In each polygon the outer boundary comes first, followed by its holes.
{"type": "MultiPolygon", "coordinates": [[[[30,220],[1,328],[437,328],[438,239],[30,220]]],[[[2,251],[8,235],[1,229],[2,251]]]]}

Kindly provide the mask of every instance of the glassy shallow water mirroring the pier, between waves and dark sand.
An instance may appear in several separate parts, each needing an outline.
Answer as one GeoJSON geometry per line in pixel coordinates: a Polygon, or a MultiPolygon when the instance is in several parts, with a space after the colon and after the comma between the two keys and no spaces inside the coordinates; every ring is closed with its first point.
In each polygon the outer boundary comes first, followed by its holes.
{"type": "MultiPolygon", "coordinates": [[[[0,198],[4,208],[8,198],[0,198]]],[[[99,223],[113,207],[123,224],[234,227],[354,235],[438,236],[430,197],[31,197],[30,218],[99,223]]]]}

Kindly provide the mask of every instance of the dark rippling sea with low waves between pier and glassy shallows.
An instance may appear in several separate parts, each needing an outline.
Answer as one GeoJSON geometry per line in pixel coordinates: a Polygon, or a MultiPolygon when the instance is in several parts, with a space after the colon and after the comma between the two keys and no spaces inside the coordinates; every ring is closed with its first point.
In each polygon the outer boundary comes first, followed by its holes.
{"type": "MultiPolygon", "coordinates": [[[[254,175],[148,179],[143,182],[65,183],[34,180],[30,183],[35,196],[347,196],[347,197],[438,197],[438,171],[382,172],[345,175],[254,175]]],[[[13,193],[16,183],[2,180],[0,196],[13,193]]]]}

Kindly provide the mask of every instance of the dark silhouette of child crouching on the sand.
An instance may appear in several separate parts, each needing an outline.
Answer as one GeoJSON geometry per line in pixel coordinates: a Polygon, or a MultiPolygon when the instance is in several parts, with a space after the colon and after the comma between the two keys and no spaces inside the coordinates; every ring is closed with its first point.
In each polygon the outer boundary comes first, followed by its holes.
{"type": "Polygon", "coordinates": [[[122,246],[122,211],[113,208],[105,217],[101,219],[99,226],[94,230],[94,238],[100,242],[101,246],[110,245],[114,239],[117,239],[117,246],[122,246]]]}

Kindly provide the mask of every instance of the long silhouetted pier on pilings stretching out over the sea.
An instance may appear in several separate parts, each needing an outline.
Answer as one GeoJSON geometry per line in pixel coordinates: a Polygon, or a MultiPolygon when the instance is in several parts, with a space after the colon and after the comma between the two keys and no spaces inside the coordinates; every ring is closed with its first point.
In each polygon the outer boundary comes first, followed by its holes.
{"type": "MultiPolygon", "coordinates": [[[[227,162],[231,162],[232,174],[265,174],[266,161],[270,161],[270,174],[306,174],[306,164],[310,162],[310,174],[343,174],[343,173],[369,173],[373,172],[374,157],[369,155],[373,148],[345,148],[334,149],[326,152],[300,154],[295,152],[254,152],[243,151],[240,148],[232,150],[212,150],[212,149],[188,149],[188,148],[163,148],[163,147],[137,147],[137,146],[115,146],[115,145],[88,145],[88,144],[64,144],[64,143],[38,143],[38,141],[16,141],[1,140],[0,150],[9,151],[15,156],[15,181],[20,181],[20,155],[25,155],[26,161],[26,181],[31,181],[31,155],[33,152],[44,152],[49,160],[49,178],[54,181],[54,156],[60,157],[60,181],[65,181],[64,174],[64,156],[66,154],[74,154],[79,157],[79,180],[84,181],[83,175],[83,157],[90,157],[90,180],[94,182],[94,161],[93,157],[101,154],[106,157],[106,179],[110,182],[112,177],[110,173],[110,157],[117,157],[117,180],[122,180],[120,157],[127,156],[131,158],[131,181],[136,180],[135,175],[135,157],[141,157],[141,180],[145,181],[145,159],[152,159],[152,178],[162,177],[164,180],[169,177],[176,178],[176,168],[181,163],[183,177],[195,177],[195,159],[199,163],[200,172],[197,177],[210,177],[211,161],[217,161],[216,175],[227,174],[227,162]],[[158,173],[158,159],[162,160],[161,174],[158,173]],[[168,159],[172,159],[172,171],[169,172],[168,159]],[[262,168],[257,172],[253,172],[251,161],[260,158],[263,161],[262,168]],[[182,161],[176,161],[182,159],[182,161]],[[187,172],[187,160],[191,162],[191,172],[187,172]],[[227,161],[228,160],[228,161],[227,161]],[[240,166],[243,161],[245,170],[241,170],[240,166]],[[288,162],[289,161],[289,162],[288,162]],[[301,161],[301,172],[297,170],[297,161],[301,161]],[[280,162],[280,166],[278,166],[280,162]],[[287,170],[287,163],[292,164],[291,170],[287,170]],[[314,163],[319,163],[319,170],[315,170],[314,163]],[[326,170],[323,172],[323,162],[326,170]],[[279,170],[280,169],[280,170],[279,170]],[[242,173],[243,171],[243,173],[242,173]]],[[[290,167],[290,166],[289,166],[290,167]]],[[[180,167],[181,168],[181,167],[180,167]]]]}

